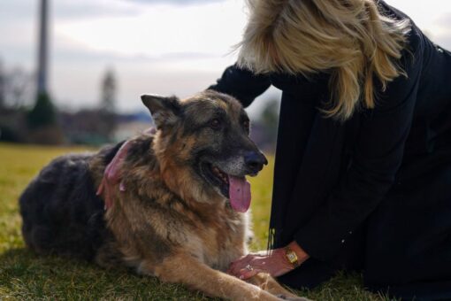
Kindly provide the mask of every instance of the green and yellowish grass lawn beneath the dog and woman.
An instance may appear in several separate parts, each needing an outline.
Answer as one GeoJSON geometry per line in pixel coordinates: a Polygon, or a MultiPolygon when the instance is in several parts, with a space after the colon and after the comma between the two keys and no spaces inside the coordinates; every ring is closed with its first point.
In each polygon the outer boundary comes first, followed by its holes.
{"type": "MultiPolygon", "coordinates": [[[[35,174],[51,158],[80,148],[22,146],[0,143],[0,300],[25,299],[144,299],[209,300],[181,285],[126,270],[103,270],[88,262],[38,257],[25,248],[20,234],[18,197],[35,174]]],[[[272,160],[271,160],[272,164],[272,160]]],[[[271,203],[272,165],[252,183],[252,212],[256,242],[266,246],[271,203]]],[[[384,300],[362,287],[360,275],[338,274],[330,282],[301,295],[315,300],[384,300]]]]}

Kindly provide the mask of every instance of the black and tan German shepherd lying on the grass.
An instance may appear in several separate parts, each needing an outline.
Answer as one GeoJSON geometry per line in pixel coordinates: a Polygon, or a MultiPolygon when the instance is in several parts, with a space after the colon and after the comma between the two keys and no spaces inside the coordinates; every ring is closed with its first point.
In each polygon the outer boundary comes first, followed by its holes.
{"type": "Polygon", "coordinates": [[[268,274],[243,282],[224,273],[248,253],[245,176],[267,163],[248,137],[241,104],[210,90],[183,101],[141,99],[157,131],[128,141],[112,204],[104,209],[96,187],[120,143],[56,158],[19,199],[27,246],[104,267],[132,266],[212,297],[302,300],[268,274]]]}

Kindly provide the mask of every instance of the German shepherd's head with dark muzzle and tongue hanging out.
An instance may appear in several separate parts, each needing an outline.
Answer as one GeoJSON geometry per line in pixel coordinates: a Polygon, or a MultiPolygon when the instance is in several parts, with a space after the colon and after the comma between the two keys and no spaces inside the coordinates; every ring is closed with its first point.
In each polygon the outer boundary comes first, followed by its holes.
{"type": "Polygon", "coordinates": [[[248,114],[241,104],[210,90],[182,101],[152,95],[141,99],[157,126],[157,156],[178,171],[172,174],[180,177],[177,185],[191,181],[207,195],[229,199],[235,211],[246,212],[250,185],[245,176],[258,174],[267,160],[249,138],[248,114]]]}

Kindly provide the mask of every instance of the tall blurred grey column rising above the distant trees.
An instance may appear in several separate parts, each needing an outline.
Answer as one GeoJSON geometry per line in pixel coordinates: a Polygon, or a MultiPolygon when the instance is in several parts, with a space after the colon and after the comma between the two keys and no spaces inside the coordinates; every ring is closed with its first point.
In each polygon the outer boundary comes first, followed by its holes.
{"type": "Polygon", "coordinates": [[[41,0],[39,10],[39,49],[37,70],[37,95],[47,94],[49,1],[41,0]]]}

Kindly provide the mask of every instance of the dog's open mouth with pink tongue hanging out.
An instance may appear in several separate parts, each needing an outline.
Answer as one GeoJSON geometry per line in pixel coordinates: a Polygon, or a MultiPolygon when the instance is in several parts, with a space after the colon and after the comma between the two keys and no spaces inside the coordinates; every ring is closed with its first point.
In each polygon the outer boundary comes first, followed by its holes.
{"type": "Polygon", "coordinates": [[[211,185],[229,199],[230,205],[236,212],[247,212],[250,206],[250,184],[245,176],[226,174],[211,163],[201,164],[201,174],[211,185]]]}

